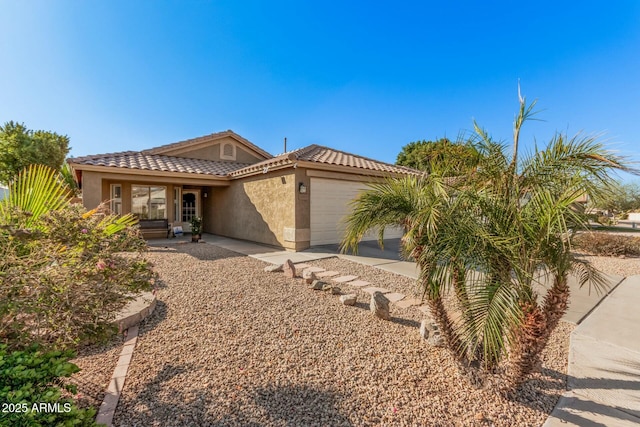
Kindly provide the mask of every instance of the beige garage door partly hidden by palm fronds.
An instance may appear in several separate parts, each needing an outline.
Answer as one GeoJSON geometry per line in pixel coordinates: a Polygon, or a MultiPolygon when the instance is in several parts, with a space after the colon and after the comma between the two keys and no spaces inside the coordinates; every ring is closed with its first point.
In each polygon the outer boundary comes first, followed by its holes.
{"type": "MultiPolygon", "coordinates": [[[[311,245],[340,243],[344,236],[344,217],[349,213],[349,203],[367,188],[359,182],[335,179],[311,178],[311,245]]],[[[388,228],[385,237],[401,237],[402,231],[388,228]]],[[[370,233],[364,240],[375,240],[370,233]]]]}

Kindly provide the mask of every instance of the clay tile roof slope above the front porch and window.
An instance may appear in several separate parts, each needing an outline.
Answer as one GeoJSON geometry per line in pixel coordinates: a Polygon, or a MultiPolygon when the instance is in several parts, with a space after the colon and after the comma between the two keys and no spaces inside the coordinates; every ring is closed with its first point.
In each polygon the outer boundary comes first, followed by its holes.
{"type": "Polygon", "coordinates": [[[246,163],[229,163],[212,160],[189,159],[185,157],[146,154],[138,151],[97,154],[74,157],[70,163],[79,165],[107,166],[149,171],[184,172],[202,175],[227,176],[229,173],[249,166],[246,163]]]}

